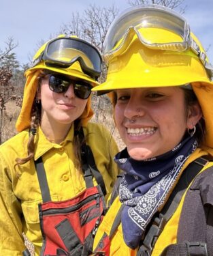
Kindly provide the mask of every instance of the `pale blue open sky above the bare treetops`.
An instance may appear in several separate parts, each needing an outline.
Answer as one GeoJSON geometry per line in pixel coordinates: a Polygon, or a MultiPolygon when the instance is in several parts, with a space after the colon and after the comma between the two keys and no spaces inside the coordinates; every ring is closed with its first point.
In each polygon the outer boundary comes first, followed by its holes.
{"type": "MultiPolygon", "coordinates": [[[[128,0],[1,0],[0,48],[3,50],[5,41],[12,36],[19,44],[14,51],[18,61],[27,63],[38,42],[57,33],[69,22],[72,12],[81,13],[94,3],[102,7],[114,3],[120,11],[129,7],[128,0]]],[[[209,48],[208,56],[213,63],[213,0],[184,0],[184,5],[184,17],[204,48],[209,48]]]]}

